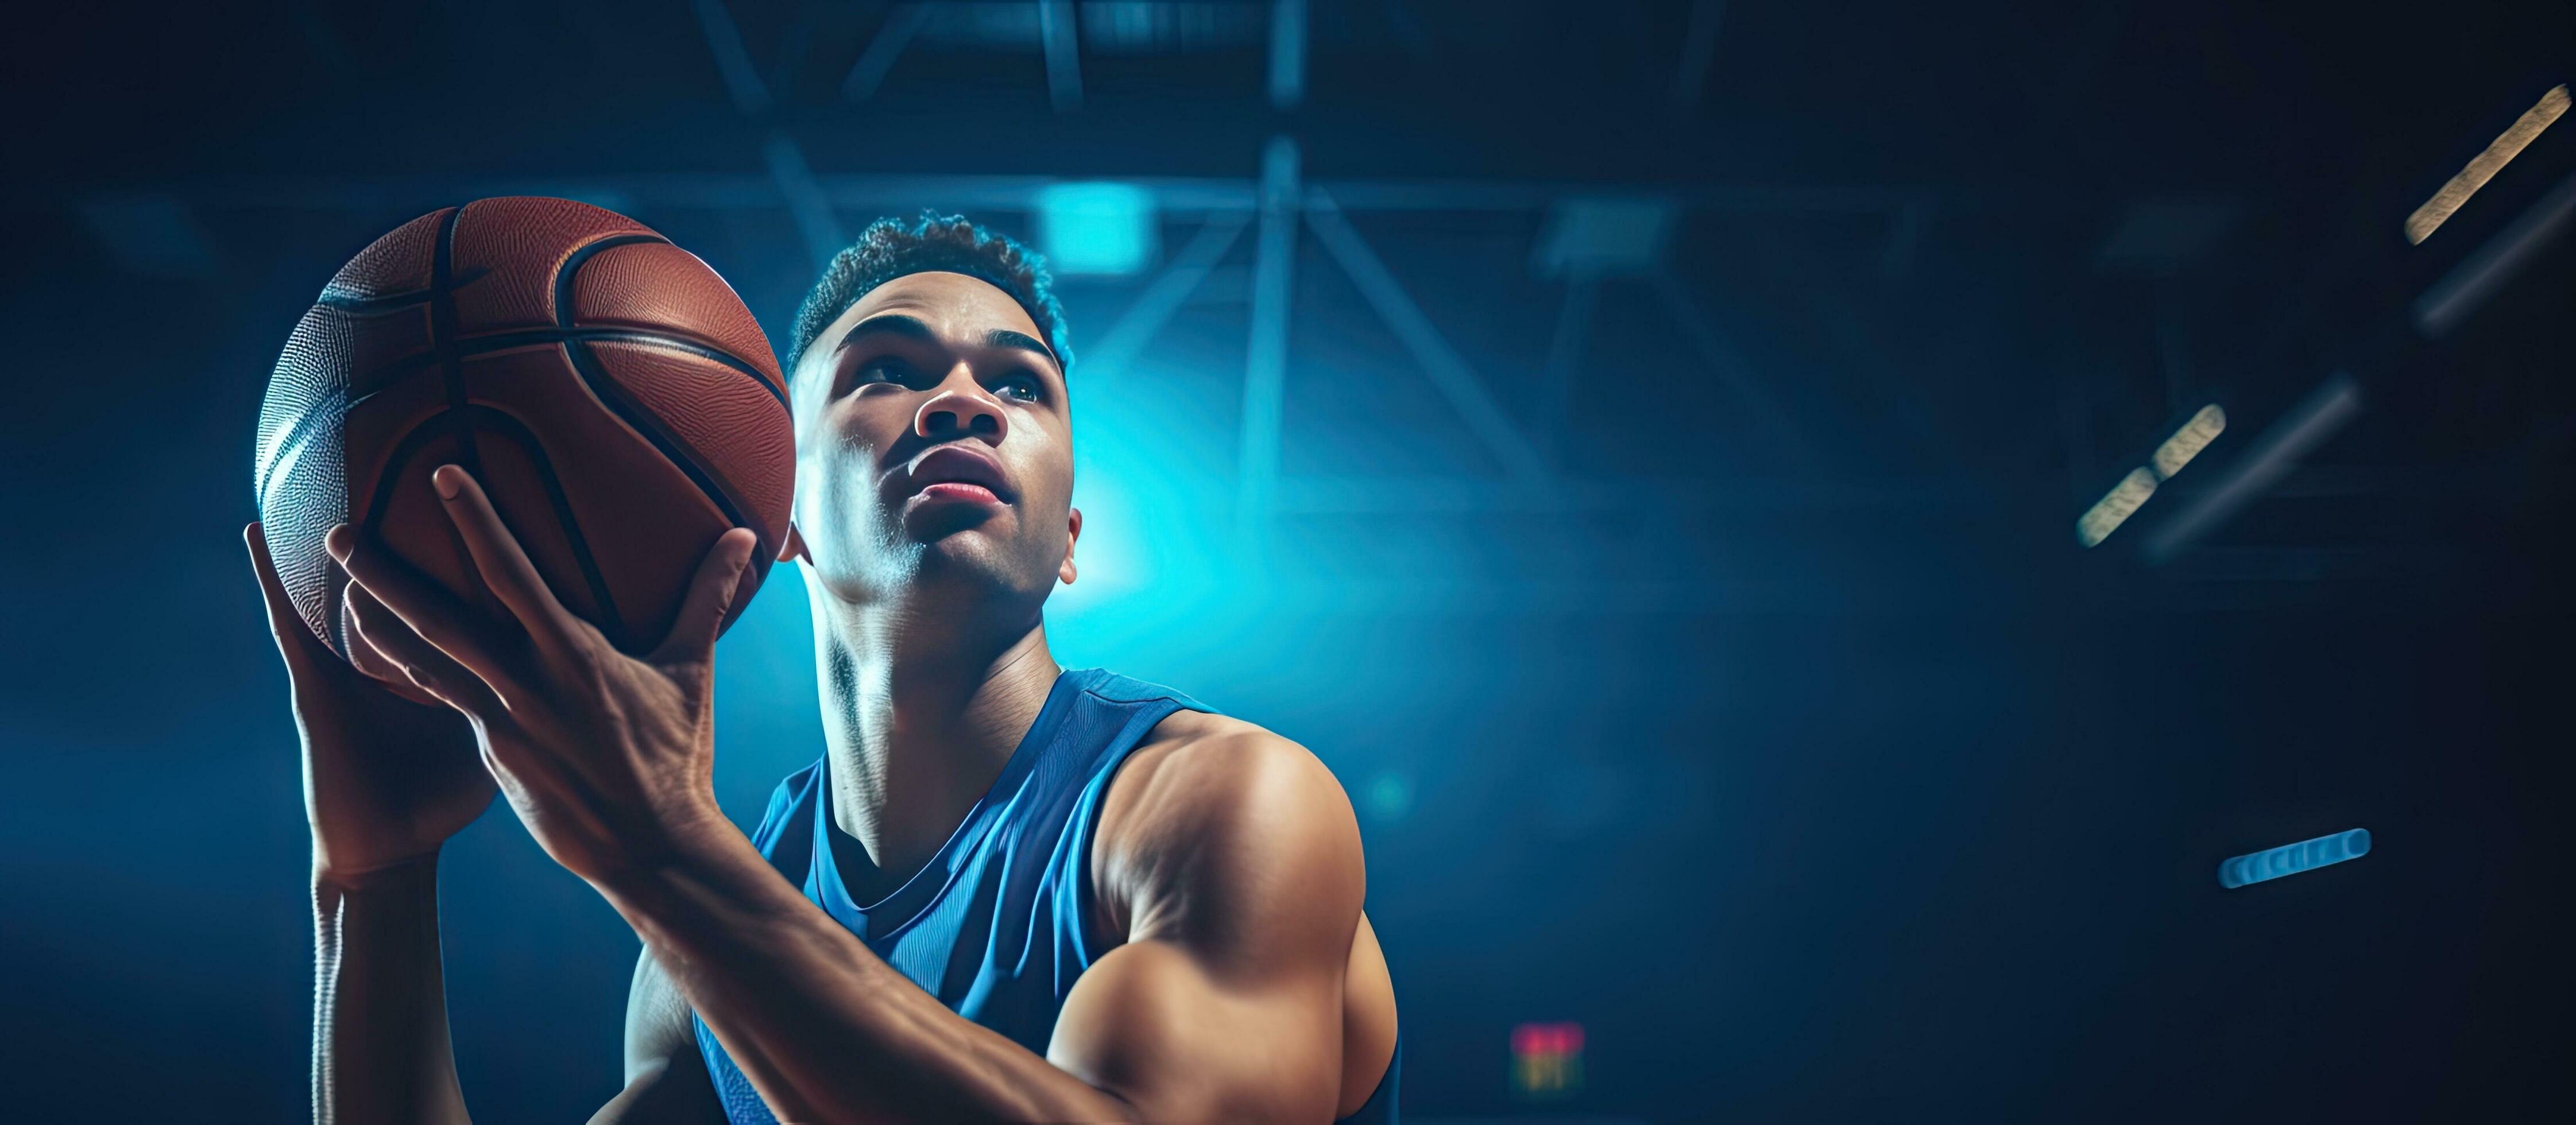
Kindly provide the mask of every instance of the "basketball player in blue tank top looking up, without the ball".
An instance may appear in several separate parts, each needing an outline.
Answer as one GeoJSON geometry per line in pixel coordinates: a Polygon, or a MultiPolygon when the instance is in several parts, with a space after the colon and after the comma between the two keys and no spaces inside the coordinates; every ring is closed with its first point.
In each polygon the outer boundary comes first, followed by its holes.
{"type": "Polygon", "coordinates": [[[464,469],[433,487],[507,613],[335,528],[368,664],[448,713],[335,659],[250,528],[304,736],[319,1120],[466,1120],[438,847],[495,790],[644,940],[626,1089],[592,1122],[1394,1120],[1342,788],[1046,649],[1082,535],[1061,340],[1043,265],[963,219],[878,221],[806,299],[781,559],[814,605],[824,752],[750,839],[708,788],[750,530],[634,659],[556,605],[464,469]]]}

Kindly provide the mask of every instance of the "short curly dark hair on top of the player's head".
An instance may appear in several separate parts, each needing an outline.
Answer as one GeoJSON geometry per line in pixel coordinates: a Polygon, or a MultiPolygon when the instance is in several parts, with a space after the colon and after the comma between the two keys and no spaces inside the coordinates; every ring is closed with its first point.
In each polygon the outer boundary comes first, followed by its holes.
{"type": "Polygon", "coordinates": [[[832,265],[822,268],[822,281],[796,309],[796,348],[788,350],[788,366],[804,360],[814,337],[871,288],[907,273],[963,273],[1010,293],[1038,324],[1056,363],[1072,373],[1074,355],[1064,348],[1064,306],[1056,304],[1046,257],[966,221],[966,216],[938,211],[922,211],[914,221],[878,219],[858,232],[858,242],[832,255],[832,265]]]}

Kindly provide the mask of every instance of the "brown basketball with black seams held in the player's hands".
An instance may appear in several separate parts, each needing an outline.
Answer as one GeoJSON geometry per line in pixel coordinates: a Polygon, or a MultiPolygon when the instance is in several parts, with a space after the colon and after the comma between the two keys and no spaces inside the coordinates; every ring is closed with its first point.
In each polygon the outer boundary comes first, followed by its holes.
{"type": "Polygon", "coordinates": [[[296,613],[420,700],[353,651],[322,535],[348,523],[507,618],[430,487],[440,463],[482,481],[567,610],[641,654],[729,528],[760,535],[732,613],[750,602],[786,535],[796,443],[768,337],[716,270],[613,211],[484,198],[343,265],[260,407],[260,523],[296,613]]]}

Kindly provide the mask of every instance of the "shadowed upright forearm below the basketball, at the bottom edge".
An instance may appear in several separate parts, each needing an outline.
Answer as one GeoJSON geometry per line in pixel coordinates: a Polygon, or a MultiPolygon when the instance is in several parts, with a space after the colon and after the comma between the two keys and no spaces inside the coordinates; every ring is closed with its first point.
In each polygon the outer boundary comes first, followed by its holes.
{"type": "Polygon", "coordinates": [[[438,855],[314,875],[314,1122],[464,1122],[438,965],[438,855]]]}

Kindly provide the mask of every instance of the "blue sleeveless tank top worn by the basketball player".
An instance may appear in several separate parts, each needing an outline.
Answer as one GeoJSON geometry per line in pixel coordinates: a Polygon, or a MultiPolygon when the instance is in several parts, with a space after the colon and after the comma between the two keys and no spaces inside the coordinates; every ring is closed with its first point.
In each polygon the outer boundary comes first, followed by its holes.
{"type": "MultiPolygon", "coordinates": [[[[832,922],[951,1012],[1046,1055],[1064,996],[1108,953],[1095,934],[1084,934],[1082,922],[1092,916],[1092,829],[1110,775],[1175,711],[1213,708],[1103,669],[1056,674],[1038,721],[1028,726],[992,790],[966,811],[938,855],[878,904],[850,901],[835,865],[832,837],[840,829],[832,826],[824,762],[778,783],[752,844],[832,922]]],[[[706,1022],[690,1014],[690,1025],[706,1074],[716,1079],[716,1097],[724,1099],[724,1117],[734,1125],[775,1125],[778,1117],[706,1022]]],[[[1342,1122],[1396,1120],[1401,1061],[1399,1043],[1368,1104],[1342,1122]]]]}

